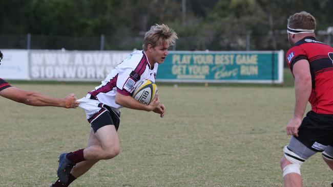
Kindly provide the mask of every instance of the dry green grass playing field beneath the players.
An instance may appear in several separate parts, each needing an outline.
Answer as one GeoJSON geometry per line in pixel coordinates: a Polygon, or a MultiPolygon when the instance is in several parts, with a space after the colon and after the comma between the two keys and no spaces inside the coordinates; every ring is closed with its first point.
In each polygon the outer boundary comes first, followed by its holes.
{"type": "MultiPolygon", "coordinates": [[[[95,84],[14,84],[55,97],[86,95],[95,84]]],[[[120,154],[71,186],[282,186],[293,87],[159,86],[167,112],[123,109],[120,154]]],[[[31,107],[0,98],[0,186],[49,186],[57,156],[86,146],[82,109],[31,107]]],[[[320,154],[302,166],[304,186],[329,186],[320,154]]]]}

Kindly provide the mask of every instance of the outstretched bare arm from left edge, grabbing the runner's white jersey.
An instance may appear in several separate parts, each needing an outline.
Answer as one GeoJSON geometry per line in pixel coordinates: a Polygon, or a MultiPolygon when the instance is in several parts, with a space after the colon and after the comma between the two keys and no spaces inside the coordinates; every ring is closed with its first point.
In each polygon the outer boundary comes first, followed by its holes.
{"type": "Polygon", "coordinates": [[[54,98],[46,96],[35,91],[26,91],[16,87],[9,87],[0,91],[0,96],[7,99],[24,103],[32,106],[57,106],[65,108],[76,108],[79,104],[76,101],[74,93],[69,94],[66,98],[54,98]]]}

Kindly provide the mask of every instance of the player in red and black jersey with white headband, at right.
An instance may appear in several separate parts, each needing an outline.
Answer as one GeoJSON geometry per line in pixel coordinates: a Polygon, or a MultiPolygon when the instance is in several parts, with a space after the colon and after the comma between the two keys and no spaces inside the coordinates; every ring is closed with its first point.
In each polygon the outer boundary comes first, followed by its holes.
{"type": "Polygon", "coordinates": [[[307,12],[288,19],[292,48],[286,60],[295,77],[295,111],[286,130],[292,135],[284,147],[281,169],[285,186],[302,186],[302,163],[317,152],[333,170],[333,48],[318,41],[316,19],[307,12]],[[311,104],[302,120],[307,102],[311,104]]]}

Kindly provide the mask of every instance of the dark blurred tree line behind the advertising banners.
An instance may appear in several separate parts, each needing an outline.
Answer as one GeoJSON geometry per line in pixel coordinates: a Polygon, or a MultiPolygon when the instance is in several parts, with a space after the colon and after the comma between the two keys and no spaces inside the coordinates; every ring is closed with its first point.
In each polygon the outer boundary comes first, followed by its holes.
{"type": "MultiPolygon", "coordinates": [[[[326,30],[331,8],[331,0],[4,0],[0,35],[105,35],[139,43],[150,26],[164,23],[178,33],[178,50],[237,50],[248,41],[250,49],[278,50],[287,47],[290,15],[307,11],[317,30],[326,30]]],[[[117,43],[113,48],[122,49],[117,43]]]]}

